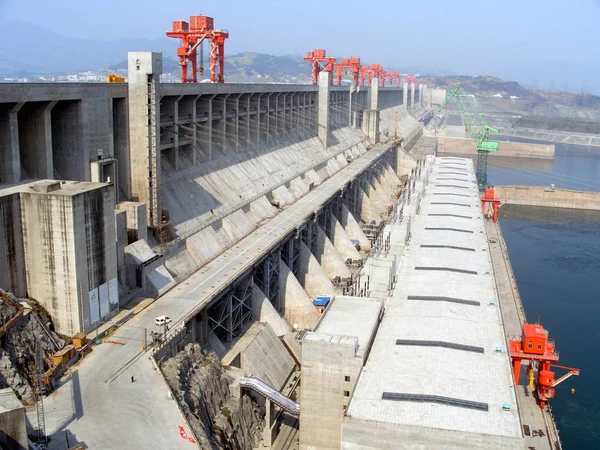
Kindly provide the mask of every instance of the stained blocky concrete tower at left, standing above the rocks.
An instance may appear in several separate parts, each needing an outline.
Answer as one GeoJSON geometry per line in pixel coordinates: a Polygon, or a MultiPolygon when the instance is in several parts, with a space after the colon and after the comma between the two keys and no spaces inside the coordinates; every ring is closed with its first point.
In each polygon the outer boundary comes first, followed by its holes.
{"type": "Polygon", "coordinates": [[[28,294],[68,336],[118,307],[113,186],[77,186],[21,192],[28,294]]]}

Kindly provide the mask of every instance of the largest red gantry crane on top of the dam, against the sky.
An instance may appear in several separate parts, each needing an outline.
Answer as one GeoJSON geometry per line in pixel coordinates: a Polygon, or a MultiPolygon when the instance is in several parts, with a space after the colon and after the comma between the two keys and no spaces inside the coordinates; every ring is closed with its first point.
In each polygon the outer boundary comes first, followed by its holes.
{"type": "Polygon", "coordinates": [[[167,31],[167,37],[181,39],[181,47],[177,49],[181,66],[181,82],[196,83],[197,72],[204,73],[203,61],[200,60],[198,70],[197,51],[205,40],[210,41],[210,81],[225,82],[225,39],[229,37],[226,30],[215,30],[214,19],[207,16],[190,16],[190,22],[183,20],[173,22],[173,30],[167,31]],[[192,66],[192,77],[188,78],[188,65],[192,66]],[[217,71],[218,64],[218,71],[217,71]]]}

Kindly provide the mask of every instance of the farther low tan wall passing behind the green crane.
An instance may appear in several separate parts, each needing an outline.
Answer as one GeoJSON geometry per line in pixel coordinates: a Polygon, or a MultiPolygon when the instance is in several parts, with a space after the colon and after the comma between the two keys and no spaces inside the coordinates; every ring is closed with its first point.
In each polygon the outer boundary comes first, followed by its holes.
{"type": "MultiPolygon", "coordinates": [[[[554,158],[554,144],[530,144],[522,142],[502,142],[497,153],[490,156],[512,156],[521,158],[554,158]]],[[[440,138],[438,153],[476,155],[477,146],[472,139],[440,138]]]]}

